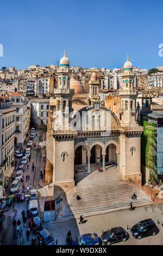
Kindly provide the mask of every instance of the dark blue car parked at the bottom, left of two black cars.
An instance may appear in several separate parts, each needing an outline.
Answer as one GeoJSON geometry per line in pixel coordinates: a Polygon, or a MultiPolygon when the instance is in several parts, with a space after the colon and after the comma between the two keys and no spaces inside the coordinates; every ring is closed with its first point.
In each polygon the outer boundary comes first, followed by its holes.
{"type": "Polygon", "coordinates": [[[99,245],[97,234],[79,235],[76,239],[72,240],[71,245],[99,245]]]}

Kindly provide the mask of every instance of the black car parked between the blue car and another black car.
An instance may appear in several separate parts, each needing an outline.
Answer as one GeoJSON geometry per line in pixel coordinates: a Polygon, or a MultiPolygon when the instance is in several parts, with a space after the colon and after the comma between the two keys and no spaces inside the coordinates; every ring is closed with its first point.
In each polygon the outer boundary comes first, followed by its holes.
{"type": "Polygon", "coordinates": [[[125,242],[129,239],[129,234],[127,231],[122,227],[111,228],[105,231],[102,236],[102,241],[104,245],[111,245],[111,243],[116,242],[125,242]]]}

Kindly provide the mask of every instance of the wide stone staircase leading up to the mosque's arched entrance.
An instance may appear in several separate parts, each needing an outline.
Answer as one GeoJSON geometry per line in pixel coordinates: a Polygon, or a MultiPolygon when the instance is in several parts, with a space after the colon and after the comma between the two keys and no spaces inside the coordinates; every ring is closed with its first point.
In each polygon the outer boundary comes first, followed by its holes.
{"type": "Polygon", "coordinates": [[[92,216],[109,211],[128,209],[131,196],[135,192],[137,200],[133,205],[149,204],[151,200],[138,187],[129,185],[116,168],[108,168],[98,173],[92,170],[87,174],[79,170],[76,176],[76,191],[65,208],[60,212],[57,221],[72,220],[80,215],[92,216]],[[77,201],[76,196],[81,197],[77,201]]]}

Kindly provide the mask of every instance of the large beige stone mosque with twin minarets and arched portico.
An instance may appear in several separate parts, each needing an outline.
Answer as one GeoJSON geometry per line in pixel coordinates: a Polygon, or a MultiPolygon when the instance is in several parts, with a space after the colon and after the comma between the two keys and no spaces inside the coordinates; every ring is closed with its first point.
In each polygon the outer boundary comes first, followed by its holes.
{"type": "Polygon", "coordinates": [[[84,166],[90,173],[91,164],[97,163],[105,172],[106,165],[111,163],[121,172],[124,181],[141,186],[143,127],[136,121],[137,92],[133,87],[133,65],[129,58],[122,73],[123,88],[119,90],[120,119],[101,105],[95,72],[89,81],[89,94],[84,92],[71,74],[66,52],[60,59],[57,75],[55,99],[49,102],[46,181],[50,179],[54,186],[67,192],[75,186],[75,166],[84,166]]]}

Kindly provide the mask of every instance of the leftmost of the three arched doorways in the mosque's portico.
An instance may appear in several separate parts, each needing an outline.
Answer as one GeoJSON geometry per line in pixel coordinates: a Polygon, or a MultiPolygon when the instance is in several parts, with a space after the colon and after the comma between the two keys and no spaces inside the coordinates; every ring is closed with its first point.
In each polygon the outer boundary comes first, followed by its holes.
{"type": "Polygon", "coordinates": [[[86,164],[87,163],[87,149],[80,145],[75,151],[74,164],[86,164]]]}

